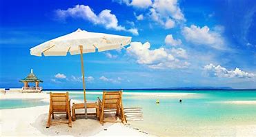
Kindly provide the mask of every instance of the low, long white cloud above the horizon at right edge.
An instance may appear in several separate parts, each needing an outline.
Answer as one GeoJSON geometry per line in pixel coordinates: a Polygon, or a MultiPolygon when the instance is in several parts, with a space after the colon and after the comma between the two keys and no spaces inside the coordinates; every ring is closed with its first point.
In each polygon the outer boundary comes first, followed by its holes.
{"type": "Polygon", "coordinates": [[[240,70],[239,68],[235,68],[235,70],[227,70],[225,67],[221,67],[220,65],[209,64],[204,66],[204,70],[206,70],[209,76],[217,76],[217,77],[226,77],[226,78],[252,78],[255,76],[253,73],[248,73],[240,70]]]}

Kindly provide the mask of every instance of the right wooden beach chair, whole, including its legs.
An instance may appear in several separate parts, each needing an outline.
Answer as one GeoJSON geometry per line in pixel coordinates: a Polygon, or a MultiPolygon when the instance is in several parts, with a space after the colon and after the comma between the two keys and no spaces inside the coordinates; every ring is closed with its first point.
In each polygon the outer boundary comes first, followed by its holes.
{"type": "Polygon", "coordinates": [[[124,107],[122,103],[122,92],[103,92],[102,101],[98,97],[98,105],[99,105],[99,122],[103,125],[104,122],[117,122],[115,121],[106,121],[104,120],[105,112],[115,112],[116,116],[121,118],[122,123],[127,123],[126,118],[124,116],[124,107]]]}

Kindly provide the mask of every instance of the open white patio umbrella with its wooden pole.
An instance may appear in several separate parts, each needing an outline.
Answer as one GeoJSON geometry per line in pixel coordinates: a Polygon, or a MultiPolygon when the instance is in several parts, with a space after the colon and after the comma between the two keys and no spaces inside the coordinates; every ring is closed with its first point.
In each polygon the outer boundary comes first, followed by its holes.
{"type": "Polygon", "coordinates": [[[46,41],[30,49],[30,54],[35,56],[66,56],[81,55],[81,72],[83,76],[83,98],[85,106],[85,116],[87,118],[86,108],[86,83],[84,81],[83,53],[103,52],[114,50],[130,44],[130,36],[119,36],[114,34],[104,34],[96,32],[87,32],[78,29],[75,32],[60,36],[56,39],[46,41]]]}

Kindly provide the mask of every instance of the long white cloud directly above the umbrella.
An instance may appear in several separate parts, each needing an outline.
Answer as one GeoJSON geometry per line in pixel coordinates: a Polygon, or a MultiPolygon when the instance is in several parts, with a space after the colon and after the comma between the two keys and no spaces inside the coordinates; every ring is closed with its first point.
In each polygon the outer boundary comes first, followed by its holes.
{"type": "Polygon", "coordinates": [[[68,17],[79,18],[85,21],[90,21],[95,25],[102,25],[106,29],[113,29],[118,31],[131,32],[138,35],[137,28],[126,29],[124,26],[118,24],[117,17],[111,13],[111,10],[102,10],[99,14],[95,14],[89,6],[77,5],[74,8],[67,10],[56,10],[57,17],[65,20],[68,17]]]}

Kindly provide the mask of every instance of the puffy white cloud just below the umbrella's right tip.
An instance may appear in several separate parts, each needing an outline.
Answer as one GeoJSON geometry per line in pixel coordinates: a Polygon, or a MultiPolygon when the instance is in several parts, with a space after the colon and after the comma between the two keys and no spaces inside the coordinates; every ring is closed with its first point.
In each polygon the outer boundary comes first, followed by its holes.
{"type": "Polygon", "coordinates": [[[137,60],[137,63],[147,65],[152,69],[185,68],[189,63],[181,61],[171,54],[169,49],[157,48],[150,50],[150,43],[130,43],[127,53],[137,60]]]}

